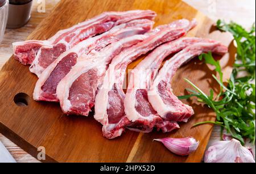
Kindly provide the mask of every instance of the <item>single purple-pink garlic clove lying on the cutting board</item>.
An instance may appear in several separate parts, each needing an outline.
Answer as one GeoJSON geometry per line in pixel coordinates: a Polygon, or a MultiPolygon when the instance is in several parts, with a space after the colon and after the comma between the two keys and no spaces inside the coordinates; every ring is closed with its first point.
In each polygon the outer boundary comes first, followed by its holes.
{"type": "Polygon", "coordinates": [[[177,155],[185,156],[195,151],[199,145],[199,141],[196,141],[193,137],[187,138],[160,138],[153,141],[162,142],[164,146],[171,152],[177,155]]]}

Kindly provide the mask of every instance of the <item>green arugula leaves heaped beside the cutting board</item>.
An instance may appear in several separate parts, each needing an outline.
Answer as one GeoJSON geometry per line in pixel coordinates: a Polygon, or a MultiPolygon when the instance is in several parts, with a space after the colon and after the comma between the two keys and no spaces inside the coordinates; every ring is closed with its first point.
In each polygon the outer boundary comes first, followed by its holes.
{"type": "Polygon", "coordinates": [[[223,84],[223,74],[220,62],[215,61],[211,53],[201,54],[200,60],[213,65],[220,79],[215,75],[213,78],[220,84],[220,93],[213,97],[213,90],[210,89],[206,95],[195,84],[185,79],[195,90],[187,89],[191,94],[180,96],[179,99],[197,97],[197,100],[212,108],[217,115],[217,121],[199,122],[193,126],[201,124],[216,124],[221,126],[221,137],[224,129],[238,139],[242,145],[244,138],[249,138],[255,144],[255,26],[250,31],[246,31],[240,25],[218,20],[217,28],[221,31],[228,31],[234,36],[237,44],[237,56],[234,63],[232,75],[228,80],[228,85],[223,84]],[[238,77],[240,71],[245,71],[243,77],[238,77]]]}

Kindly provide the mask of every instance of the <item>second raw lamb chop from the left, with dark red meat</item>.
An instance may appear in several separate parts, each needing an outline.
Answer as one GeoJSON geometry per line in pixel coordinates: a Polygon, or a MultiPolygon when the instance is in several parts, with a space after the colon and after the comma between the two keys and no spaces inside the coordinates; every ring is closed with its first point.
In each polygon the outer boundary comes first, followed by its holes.
{"type": "Polygon", "coordinates": [[[77,58],[82,54],[88,54],[91,50],[104,48],[125,37],[140,35],[150,31],[154,22],[148,19],[132,20],[119,26],[115,26],[108,32],[81,41],[72,49],[61,54],[40,75],[34,90],[34,100],[59,101],[56,97],[56,88],[60,80],[68,74],[71,67],[76,64],[77,58]]]}

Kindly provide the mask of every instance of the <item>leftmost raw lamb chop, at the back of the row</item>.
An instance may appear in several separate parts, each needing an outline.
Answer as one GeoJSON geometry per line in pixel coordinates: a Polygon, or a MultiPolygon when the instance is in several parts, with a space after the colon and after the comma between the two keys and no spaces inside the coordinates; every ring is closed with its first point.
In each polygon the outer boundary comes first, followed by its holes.
{"type": "Polygon", "coordinates": [[[123,12],[104,12],[76,26],[57,32],[45,41],[29,40],[14,43],[14,57],[24,65],[31,64],[30,71],[40,75],[61,53],[72,48],[80,41],[112,27],[134,19],[154,19],[154,11],[132,10],[123,12]]]}

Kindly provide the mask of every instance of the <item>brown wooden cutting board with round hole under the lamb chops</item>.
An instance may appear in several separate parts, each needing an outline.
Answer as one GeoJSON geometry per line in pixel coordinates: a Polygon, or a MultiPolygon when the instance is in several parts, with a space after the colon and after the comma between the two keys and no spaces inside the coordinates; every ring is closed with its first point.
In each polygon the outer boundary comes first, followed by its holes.
{"type": "MultiPolygon", "coordinates": [[[[187,36],[212,38],[228,45],[228,54],[214,57],[221,62],[224,79],[229,78],[236,52],[232,37],[216,31],[212,20],[179,0],[61,1],[27,39],[48,39],[60,29],[104,11],[135,9],[154,10],[158,14],[155,26],[181,18],[196,18],[198,25],[187,36]]],[[[128,69],[142,58],[131,63],[128,69]]],[[[195,58],[177,71],[172,81],[174,93],[184,95],[185,88],[191,88],[183,78],[190,79],[207,94],[209,88],[217,93],[218,84],[212,74],[215,74],[213,67],[195,58]]],[[[102,136],[101,125],[93,119],[93,113],[89,117],[67,116],[61,112],[58,103],[34,101],[32,92],[37,79],[28,66],[21,65],[13,57],[3,66],[0,72],[0,132],[35,157],[38,147],[44,147],[46,160],[43,162],[200,162],[203,158],[213,125],[195,128],[192,125],[216,117],[196,100],[184,100],[195,109],[195,115],[187,123],[180,123],[179,130],[165,134],[156,130],[147,134],[127,130],[121,137],[109,140],[102,136]],[[27,105],[21,106],[22,103],[27,105]],[[172,154],[159,142],[152,142],[154,138],[187,136],[195,137],[200,145],[185,157],[172,154]]]]}

